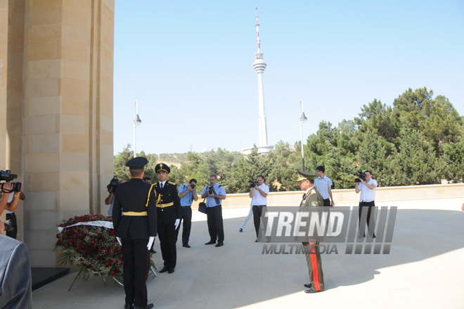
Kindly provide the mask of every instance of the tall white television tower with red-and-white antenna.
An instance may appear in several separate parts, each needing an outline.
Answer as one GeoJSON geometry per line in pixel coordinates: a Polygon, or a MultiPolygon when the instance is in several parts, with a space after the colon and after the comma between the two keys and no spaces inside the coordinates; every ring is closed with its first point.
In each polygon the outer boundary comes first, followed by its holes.
{"type": "Polygon", "coordinates": [[[272,146],[267,144],[267,125],[266,125],[266,112],[264,110],[264,87],[263,87],[263,73],[266,69],[266,63],[263,59],[261,45],[259,41],[259,21],[258,21],[258,8],[256,8],[256,32],[258,51],[255,53],[253,68],[258,74],[258,101],[259,101],[259,153],[269,153],[273,149],[272,146]]]}

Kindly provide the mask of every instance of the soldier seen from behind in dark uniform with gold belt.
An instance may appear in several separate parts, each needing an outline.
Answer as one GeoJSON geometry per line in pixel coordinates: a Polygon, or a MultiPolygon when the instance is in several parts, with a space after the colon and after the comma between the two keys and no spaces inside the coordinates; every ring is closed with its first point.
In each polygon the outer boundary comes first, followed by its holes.
{"type": "Polygon", "coordinates": [[[117,186],[112,208],[112,224],[124,260],[124,309],[153,308],[153,303],[147,304],[146,279],[150,266],[148,250],[157,232],[157,194],[153,186],[143,182],[143,166],[147,163],[143,157],[126,163],[132,179],[117,186]]]}

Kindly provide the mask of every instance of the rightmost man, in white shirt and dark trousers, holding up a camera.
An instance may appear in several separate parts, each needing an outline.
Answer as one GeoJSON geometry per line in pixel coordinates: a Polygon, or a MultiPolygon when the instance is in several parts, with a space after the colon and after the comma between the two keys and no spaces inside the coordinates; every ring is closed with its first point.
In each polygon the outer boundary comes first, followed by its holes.
{"type": "MultiPolygon", "coordinates": [[[[367,225],[368,225],[368,233],[375,238],[375,188],[377,188],[377,181],[372,179],[372,172],[370,170],[366,170],[364,172],[366,174],[366,180],[360,178],[361,182],[356,182],[354,189],[356,190],[356,194],[361,192],[361,197],[359,198],[359,230],[362,231],[364,228],[361,228],[361,213],[366,211],[367,208],[367,225]],[[372,220],[372,224],[370,224],[372,220]]],[[[363,237],[366,237],[364,234],[363,237]]]]}

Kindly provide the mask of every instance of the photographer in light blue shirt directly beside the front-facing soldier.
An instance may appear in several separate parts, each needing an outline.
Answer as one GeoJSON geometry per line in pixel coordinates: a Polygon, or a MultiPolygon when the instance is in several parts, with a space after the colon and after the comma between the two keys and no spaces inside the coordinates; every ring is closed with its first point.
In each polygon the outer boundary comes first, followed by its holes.
{"type": "MultiPolygon", "coordinates": [[[[198,201],[196,179],[190,179],[188,184],[182,184],[179,187],[179,198],[181,199],[181,221],[182,223],[182,246],[186,248],[191,248],[188,244],[188,239],[190,238],[190,229],[192,227],[192,202],[198,201]]],[[[176,242],[177,237],[179,236],[179,230],[181,225],[176,229],[176,242]]]]}

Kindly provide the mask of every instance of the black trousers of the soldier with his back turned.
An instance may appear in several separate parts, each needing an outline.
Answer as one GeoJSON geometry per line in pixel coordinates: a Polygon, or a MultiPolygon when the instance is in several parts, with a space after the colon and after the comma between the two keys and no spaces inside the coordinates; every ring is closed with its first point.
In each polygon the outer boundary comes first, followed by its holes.
{"type": "Polygon", "coordinates": [[[140,307],[147,305],[147,276],[150,268],[148,239],[122,239],[122,260],[124,260],[124,291],[126,303],[140,307]]]}

